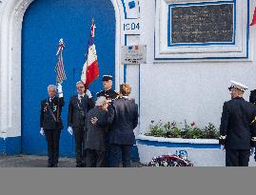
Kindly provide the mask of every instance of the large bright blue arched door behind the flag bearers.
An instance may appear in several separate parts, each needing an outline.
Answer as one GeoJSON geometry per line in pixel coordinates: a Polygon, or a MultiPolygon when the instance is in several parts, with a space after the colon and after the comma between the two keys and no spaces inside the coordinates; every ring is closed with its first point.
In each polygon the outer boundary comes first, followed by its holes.
{"type": "MultiPolygon", "coordinates": [[[[110,0],[35,0],[25,12],[22,28],[22,152],[46,155],[45,138],[39,134],[40,101],[47,87],[55,83],[55,52],[64,38],[64,82],[66,106],[62,118],[60,153],[74,154],[74,141],[67,132],[69,97],[75,92],[88,47],[91,18],[95,19],[100,77],[115,75],[115,13],[110,0]]],[[[101,80],[91,85],[92,94],[101,89],[101,80]]]]}

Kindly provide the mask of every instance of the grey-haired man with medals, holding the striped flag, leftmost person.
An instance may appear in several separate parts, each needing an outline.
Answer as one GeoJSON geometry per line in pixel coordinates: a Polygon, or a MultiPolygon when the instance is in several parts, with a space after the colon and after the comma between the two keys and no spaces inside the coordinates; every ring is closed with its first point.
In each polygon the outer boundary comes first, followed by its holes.
{"type": "Polygon", "coordinates": [[[48,142],[48,167],[57,167],[59,160],[59,140],[61,129],[63,128],[61,120],[61,111],[64,107],[64,98],[62,86],[58,84],[58,97],[56,87],[49,85],[49,98],[41,102],[40,114],[40,133],[46,136],[48,142]]]}

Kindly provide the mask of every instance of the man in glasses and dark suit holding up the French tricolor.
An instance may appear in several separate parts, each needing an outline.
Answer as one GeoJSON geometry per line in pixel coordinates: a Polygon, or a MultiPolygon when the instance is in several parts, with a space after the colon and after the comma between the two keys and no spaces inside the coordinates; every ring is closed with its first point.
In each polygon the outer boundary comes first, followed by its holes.
{"type": "Polygon", "coordinates": [[[85,119],[89,109],[94,107],[94,101],[89,89],[85,93],[85,85],[81,81],[76,83],[76,89],[78,94],[69,100],[68,131],[71,135],[74,133],[76,167],[83,167],[85,119]]]}

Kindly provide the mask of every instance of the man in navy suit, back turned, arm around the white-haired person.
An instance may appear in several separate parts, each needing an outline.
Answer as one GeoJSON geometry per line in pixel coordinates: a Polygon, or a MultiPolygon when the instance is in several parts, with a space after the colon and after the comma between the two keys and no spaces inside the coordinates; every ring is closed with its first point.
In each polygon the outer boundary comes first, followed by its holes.
{"type": "Polygon", "coordinates": [[[121,96],[108,107],[107,120],[91,119],[91,122],[98,126],[110,124],[108,143],[113,155],[114,166],[119,166],[120,163],[124,167],[130,166],[131,149],[135,144],[133,129],[138,125],[138,105],[133,99],[128,98],[130,91],[131,88],[128,84],[120,85],[121,96]]]}

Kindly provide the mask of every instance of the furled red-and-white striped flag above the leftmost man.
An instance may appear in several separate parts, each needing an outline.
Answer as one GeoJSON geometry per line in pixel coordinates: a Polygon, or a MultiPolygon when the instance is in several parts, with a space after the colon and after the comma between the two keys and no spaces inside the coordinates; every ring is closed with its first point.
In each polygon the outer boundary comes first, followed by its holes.
{"type": "Polygon", "coordinates": [[[57,83],[62,84],[64,80],[67,79],[66,74],[65,74],[65,69],[63,65],[63,56],[62,56],[62,51],[64,49],[64,41],[63,39],[60,39],[59,41],[59,46],[56,55],[58,55],[58,62],[54,68],[54,70],[57,73],[57,83]]]}

